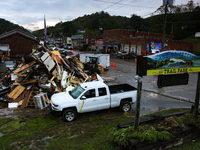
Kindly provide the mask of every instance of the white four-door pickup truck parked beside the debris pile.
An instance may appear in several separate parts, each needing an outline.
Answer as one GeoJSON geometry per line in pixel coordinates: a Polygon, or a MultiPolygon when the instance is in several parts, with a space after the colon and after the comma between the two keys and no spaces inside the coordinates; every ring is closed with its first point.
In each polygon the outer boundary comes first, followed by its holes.
{"type": "Polygon", "coordinates": [[[136,95],[137,89],[129,84],[108,86],[102,81],[85,82],[72,91],[53,94],[50,109],[61,112],[64,121],[73,121],[78,113],[114,107],[129,111],[136,95]]]}

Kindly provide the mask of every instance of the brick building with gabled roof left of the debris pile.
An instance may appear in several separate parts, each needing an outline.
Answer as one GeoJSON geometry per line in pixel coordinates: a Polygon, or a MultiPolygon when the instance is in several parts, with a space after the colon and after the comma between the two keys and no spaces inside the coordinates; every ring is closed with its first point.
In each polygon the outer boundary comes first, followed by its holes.
{"type": "Polygon", "coordinates": [[[32,34],[15,29],[1,34],[0,44],[9,45],[10,56],[14,57],[16,55],[30,54],[32,49],[39,44],[39,41],[32,34]]]}

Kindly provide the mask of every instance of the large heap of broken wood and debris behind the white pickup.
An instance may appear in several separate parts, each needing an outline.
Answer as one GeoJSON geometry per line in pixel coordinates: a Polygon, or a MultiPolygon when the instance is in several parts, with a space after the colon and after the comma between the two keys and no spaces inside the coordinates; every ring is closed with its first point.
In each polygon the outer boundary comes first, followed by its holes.
{"type": "Polygon", "coordinates": [[[45,46],[24,56],[11,75],[11,92],[7,95],[8,107],[44,108],[55,92],[65,92],[78,84],[102,80],[98,74],[88,75],[83,63],[45,46]]]}

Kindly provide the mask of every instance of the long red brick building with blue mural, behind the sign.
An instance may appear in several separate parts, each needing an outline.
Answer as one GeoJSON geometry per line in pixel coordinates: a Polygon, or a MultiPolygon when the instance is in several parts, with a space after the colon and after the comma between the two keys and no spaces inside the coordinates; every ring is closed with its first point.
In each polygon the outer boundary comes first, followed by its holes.
{"type": "MultiPolygon", "coordinates": [[[[166,35],[165,49],[184,50],[196,53],[196,43],[175,41],[173,36],[166,35]]],[[[138,55],[151,53],[153,49],[161,50],[162,34],[134,30],[113,29],[103,32],[104,50],[134,52],[138,55]]]]}

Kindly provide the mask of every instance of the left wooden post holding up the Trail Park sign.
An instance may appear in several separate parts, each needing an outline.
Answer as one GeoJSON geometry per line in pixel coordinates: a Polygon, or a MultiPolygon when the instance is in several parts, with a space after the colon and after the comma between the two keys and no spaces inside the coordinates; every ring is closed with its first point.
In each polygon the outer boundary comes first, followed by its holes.
{"type": "Polygon", "coordinates": [[[135,113],[135,121],[134,128],[137,130],[140,123],[140,103],[141,103],[141,95],[142,95],[142,77],[135,76],[135,79],[138,83],[137,85],[137,102],[136,102],[136,113],[135,113]]]}

